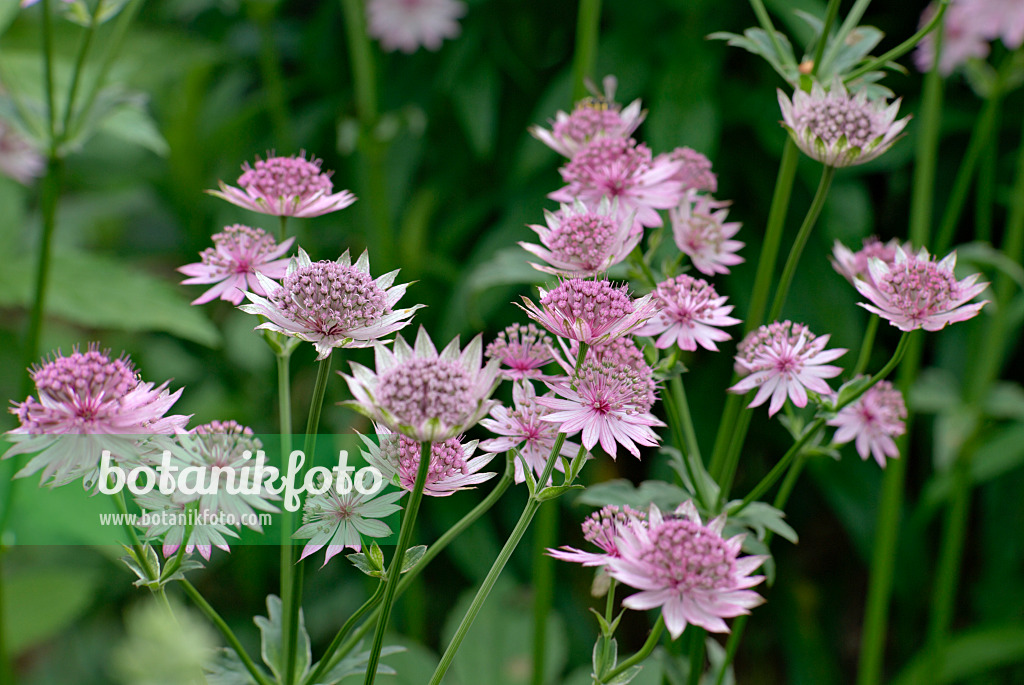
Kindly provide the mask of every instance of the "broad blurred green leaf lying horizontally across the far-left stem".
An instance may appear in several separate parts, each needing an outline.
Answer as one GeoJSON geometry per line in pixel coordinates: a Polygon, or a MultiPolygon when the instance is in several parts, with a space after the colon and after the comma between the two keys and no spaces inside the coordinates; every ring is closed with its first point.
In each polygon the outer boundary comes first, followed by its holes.
{"type": "MultiPolygon", "coordinates": [[[[0,270],[0,306],[29,307],[34,279],[34,260],[7,262],[0,270]]],[[[46,309],[90,329],[162,331],[208,347],[220,344],[220,333],[178,288],[88,253],[53,255],[46,309]]]]}

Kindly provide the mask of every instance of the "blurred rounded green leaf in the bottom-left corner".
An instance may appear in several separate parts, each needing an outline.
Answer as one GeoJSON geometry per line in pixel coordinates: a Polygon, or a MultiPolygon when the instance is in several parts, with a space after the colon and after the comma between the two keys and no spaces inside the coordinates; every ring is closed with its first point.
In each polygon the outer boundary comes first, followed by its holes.
{"type": "Polygon", "coordinates": [[[92,604],[99,576],[82,568],[25,568],[3,579],[10,654],[54,637],[92,604]]]}

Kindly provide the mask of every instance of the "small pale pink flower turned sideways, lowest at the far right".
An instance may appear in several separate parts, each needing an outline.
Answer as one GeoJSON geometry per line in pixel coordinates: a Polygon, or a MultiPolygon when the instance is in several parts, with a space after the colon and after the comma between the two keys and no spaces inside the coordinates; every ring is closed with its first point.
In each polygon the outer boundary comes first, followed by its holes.
{"type": "Polygon", "coordinates": [[[872,386],[852,404],[844,406],[828,420],[835,426],[834,441],[843,444],[856,440],[857,454],[863,460],[868,454],[879,466],[886,468],[886,458],[899,458],[895,438],[906,432],[906,404],[903,394],[889,381],[872,386]]]}

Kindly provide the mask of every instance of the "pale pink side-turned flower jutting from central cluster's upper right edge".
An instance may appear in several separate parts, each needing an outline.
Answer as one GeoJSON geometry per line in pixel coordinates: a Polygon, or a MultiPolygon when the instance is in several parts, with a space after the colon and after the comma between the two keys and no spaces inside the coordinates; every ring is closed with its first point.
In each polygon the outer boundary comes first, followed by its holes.
{"type": "Polygon", "coordinates": [[[669,211],[676,247],[690,258],[694,268],[707,275],[728,273],[730,266],[743,262],[736,254],[743,243],[731,240],[741,224],[725,221],[729,204],[691,190],[678,207],[669,211]]]}

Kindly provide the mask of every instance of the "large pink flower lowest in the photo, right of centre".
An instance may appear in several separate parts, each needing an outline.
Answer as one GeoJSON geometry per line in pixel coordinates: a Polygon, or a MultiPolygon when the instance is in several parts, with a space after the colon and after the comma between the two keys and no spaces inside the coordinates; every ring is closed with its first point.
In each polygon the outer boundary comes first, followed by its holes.
{"type": "Polygon", "coordinates": [[[764,580],[751,573],[766,557],[740,557],[743,537],[724,540],[724,516],[705,525],[692,502],[669,518],[652,505],[646,526],[617,525],[618,556],[608,558],[608,574],[641,591],[623,600],[623,606],[660,607],[673,639],[687,625],[728,633],[723,618],[750,613],[764,602],[749,588],[764,580]]]}

